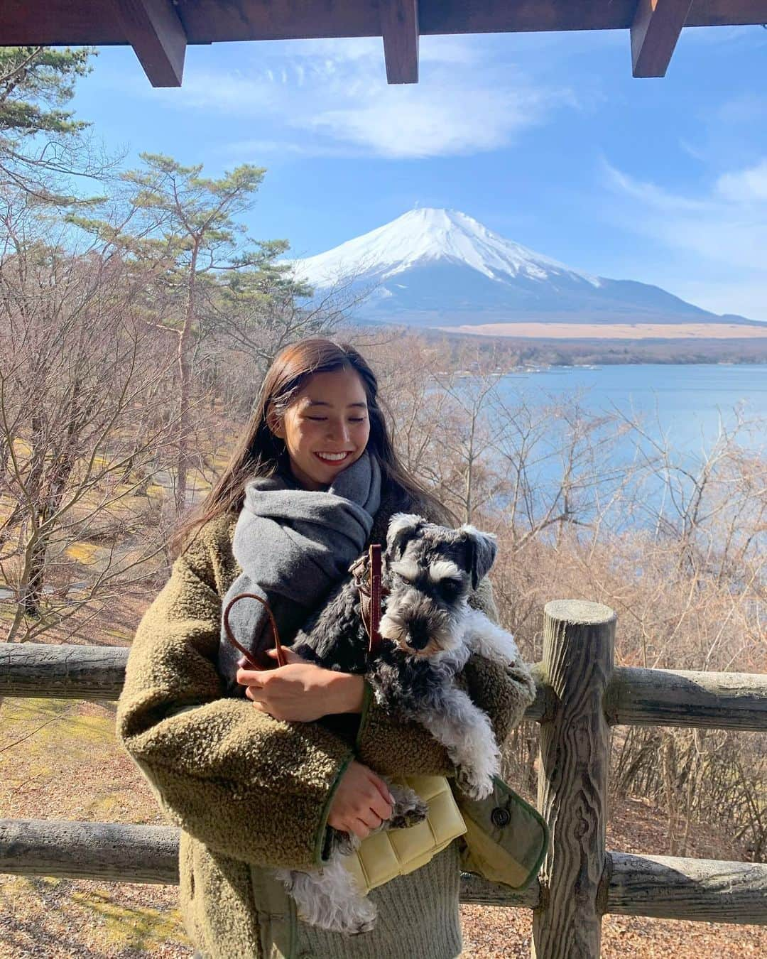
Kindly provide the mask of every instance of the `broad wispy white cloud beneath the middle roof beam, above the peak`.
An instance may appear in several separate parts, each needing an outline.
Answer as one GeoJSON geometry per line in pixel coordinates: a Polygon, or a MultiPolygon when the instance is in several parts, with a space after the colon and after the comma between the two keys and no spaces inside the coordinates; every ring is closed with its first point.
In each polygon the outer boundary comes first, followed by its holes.
{"type": "MultiPolygon", "coordinates": [[[[380,38],[264,44],[257,62],[252,71],[190,68],[168,103],[259,124],[267,135],[257,142],[294,155],[396,159],[497,150],[577,105],[568,87],[494,61],[482,37],[422,37],[416,85],[385,82],[380,38]]],[[[252,142],[241,137],[220,152],[245,154],[252,142]]]]}

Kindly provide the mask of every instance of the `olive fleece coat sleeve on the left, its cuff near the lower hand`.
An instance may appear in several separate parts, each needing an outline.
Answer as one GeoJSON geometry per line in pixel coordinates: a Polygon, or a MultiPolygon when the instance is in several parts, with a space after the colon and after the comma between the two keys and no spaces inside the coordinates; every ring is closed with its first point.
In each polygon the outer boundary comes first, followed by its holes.
{"type": "Polygon", "coordinates": [[[271,867],[320,865],[337,784],[354,758],[315,723],[222,698],[221,596],[211,550],[176,559],[141,620],[116,734],[175,825],[211,849],[271,867]]]}

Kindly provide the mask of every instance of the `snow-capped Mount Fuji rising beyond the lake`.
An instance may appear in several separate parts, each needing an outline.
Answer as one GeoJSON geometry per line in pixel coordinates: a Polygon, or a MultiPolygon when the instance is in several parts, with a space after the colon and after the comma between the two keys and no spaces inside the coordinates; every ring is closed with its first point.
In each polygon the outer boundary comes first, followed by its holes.
{"type": "Polygon", "coordinates": [[[413,326],[516,323],[728,323],[660,287],[572,269],[506,240],[457,210],[410,210],[378,229],[303,260],[314,292],[363,296],[360,319],[413,326]]]}

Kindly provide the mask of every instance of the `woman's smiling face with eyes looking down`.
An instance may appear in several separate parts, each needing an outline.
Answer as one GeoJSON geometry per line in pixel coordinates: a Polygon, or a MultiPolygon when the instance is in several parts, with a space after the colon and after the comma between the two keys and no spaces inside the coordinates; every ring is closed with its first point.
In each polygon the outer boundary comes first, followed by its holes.
{"type": "Polygon", "coordinates": [[[353,369],[315,373],[269,426],[285,440],[292,474],[304,489],[330,485],[360,458],[370,436],[359,374],[353,369]]]}

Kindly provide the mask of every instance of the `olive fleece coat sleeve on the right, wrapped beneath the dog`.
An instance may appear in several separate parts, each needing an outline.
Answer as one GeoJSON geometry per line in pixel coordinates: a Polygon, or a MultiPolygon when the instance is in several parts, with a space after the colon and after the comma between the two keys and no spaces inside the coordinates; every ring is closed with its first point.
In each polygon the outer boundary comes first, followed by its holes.
{"type": "MultiPolygon", "coordinates": [[[[489,579],[478,584],[469,601],[490,620],[498,622],[489,579]]],[[[535,698],[535,683],[529,667],[522,660],[505,667],[475,653],[456,679],[476,706],[488,714],[496,740],[502,746],[535,698]]],[[[357,750],[360,761],[382,775],[455,775],[453,762],[442,743],[419,723],[384,709],[367,683],[357,750]]]]}

